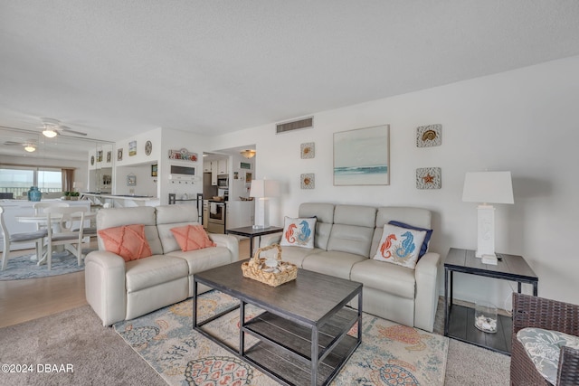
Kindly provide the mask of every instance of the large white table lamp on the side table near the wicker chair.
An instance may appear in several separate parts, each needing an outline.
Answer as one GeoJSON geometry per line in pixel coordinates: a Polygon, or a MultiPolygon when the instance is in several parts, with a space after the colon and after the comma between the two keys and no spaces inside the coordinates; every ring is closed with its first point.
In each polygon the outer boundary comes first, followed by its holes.
{"type": "Polygon", "coordinates": [[[489,203],[515,203],[510,172],[467,173],[462,201],[481,202],[478,207],[476,257],[495,255],[495,207],[489,203]]]}

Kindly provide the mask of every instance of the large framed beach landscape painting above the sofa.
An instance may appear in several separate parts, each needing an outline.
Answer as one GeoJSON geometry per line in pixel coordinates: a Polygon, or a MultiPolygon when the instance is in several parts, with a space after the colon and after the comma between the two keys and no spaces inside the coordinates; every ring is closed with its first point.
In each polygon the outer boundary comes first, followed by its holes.
{"type": "Polygon", "coordinates": [[[334,133],[334,185],[390,184],[389,125],[334,133]]]}

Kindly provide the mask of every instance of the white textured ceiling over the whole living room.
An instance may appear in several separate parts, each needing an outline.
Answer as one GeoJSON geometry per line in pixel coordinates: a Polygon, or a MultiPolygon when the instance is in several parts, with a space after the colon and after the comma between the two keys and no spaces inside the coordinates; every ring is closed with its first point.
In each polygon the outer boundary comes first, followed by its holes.
{"type": "Polygon", "coordinates": [[[578,20],[575,0],[2,0],[0,126],[222,134],[574,56],[578,20]]]}

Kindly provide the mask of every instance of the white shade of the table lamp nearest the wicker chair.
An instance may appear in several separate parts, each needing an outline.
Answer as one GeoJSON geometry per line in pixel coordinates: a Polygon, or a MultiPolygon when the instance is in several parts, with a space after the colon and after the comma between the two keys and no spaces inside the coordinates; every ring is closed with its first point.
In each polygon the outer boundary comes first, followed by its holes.
{"type": "Polygon", "coordinates": [[[471,172],[464,177],[462,201],[515,203],[510,172],[471,172]]]}

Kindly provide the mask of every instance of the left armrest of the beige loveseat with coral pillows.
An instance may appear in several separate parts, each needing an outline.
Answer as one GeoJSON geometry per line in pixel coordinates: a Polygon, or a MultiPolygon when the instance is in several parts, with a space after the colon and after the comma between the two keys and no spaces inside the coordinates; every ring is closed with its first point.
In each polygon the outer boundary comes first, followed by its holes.
{"type": "Polygon", "coordinates": [[[112,252],[97,250],[87,255],[84,265],[87,302],[99,315],[102,325],[112,325],[125,320],[125,260],[112,252]]]}

